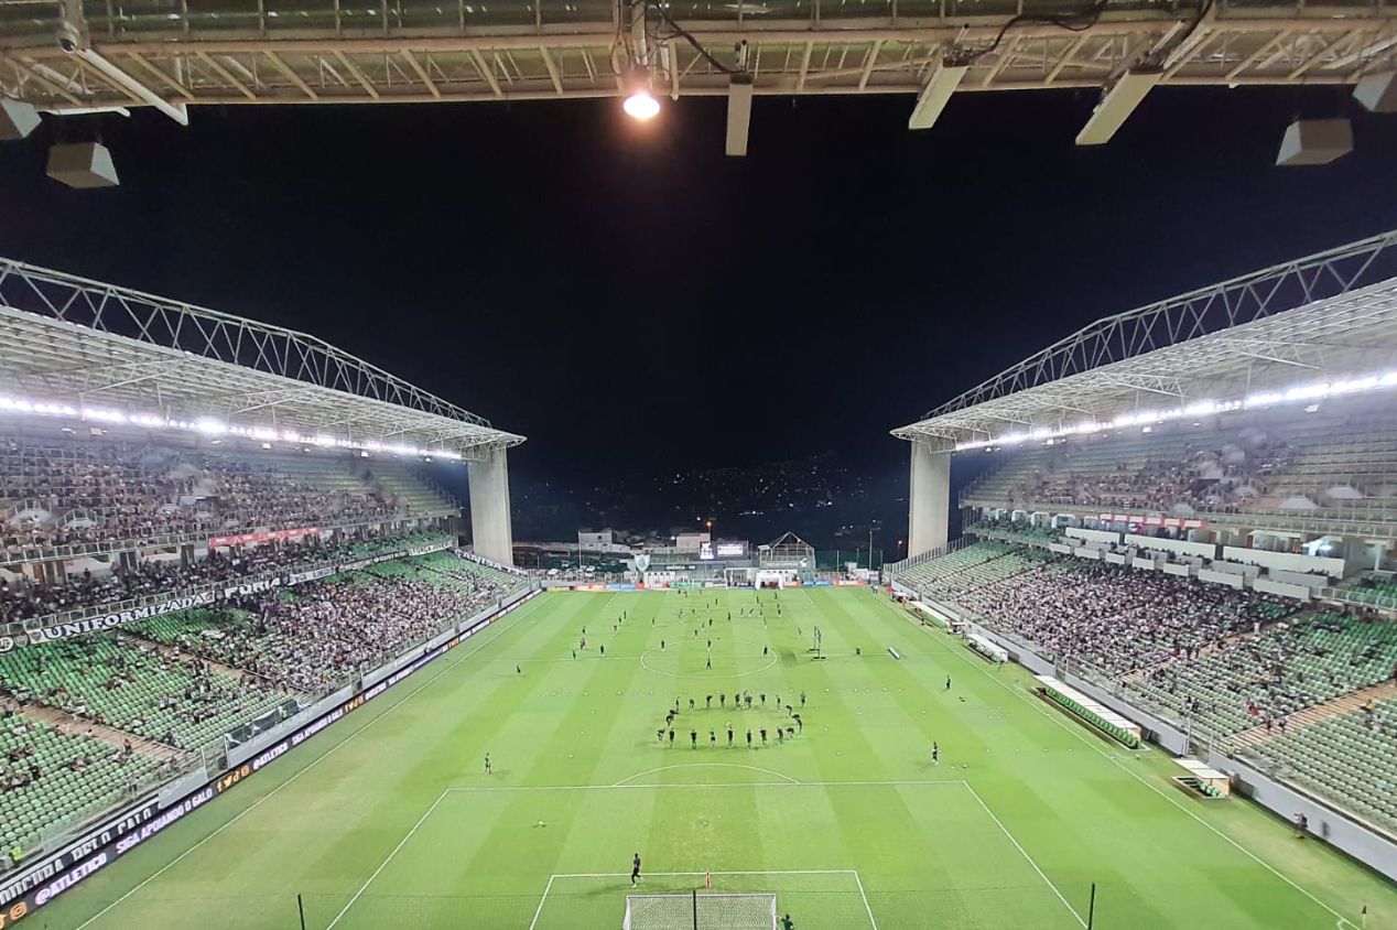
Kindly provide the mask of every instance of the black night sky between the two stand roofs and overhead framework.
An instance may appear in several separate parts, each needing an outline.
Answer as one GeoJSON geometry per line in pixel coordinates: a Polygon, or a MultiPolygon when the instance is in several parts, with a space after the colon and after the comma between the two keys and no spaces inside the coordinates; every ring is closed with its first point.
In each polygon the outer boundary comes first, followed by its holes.
{"type": "Polygon", "coordinates": [[[0,145],[0,253],[305,330],[524,433],[524,475],[752,465],[887,430],[1085,323],[1397,223],[1397,116],[1345,89],[193,109],[101,130],[113,191],[0,145]],[[1274,168],[1289,117],[1356,149],[1274,168]]]}

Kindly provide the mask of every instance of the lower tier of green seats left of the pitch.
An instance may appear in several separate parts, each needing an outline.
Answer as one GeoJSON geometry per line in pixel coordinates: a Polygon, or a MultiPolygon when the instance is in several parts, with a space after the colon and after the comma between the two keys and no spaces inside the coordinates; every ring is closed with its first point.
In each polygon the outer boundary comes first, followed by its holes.
{"type": "MultiPolygon", "coordinates": [[[[425,542],[440,538],[313,549],[363,559],[425,542]]],[[[0,834],[28,848],[38,832],[179,771],[189,754],[217,754],[236,726],[291,715],[527,584],[437,552],[0,654],[0,834]]]]}

